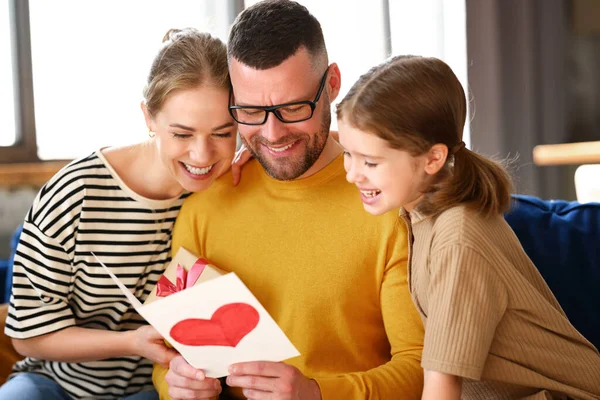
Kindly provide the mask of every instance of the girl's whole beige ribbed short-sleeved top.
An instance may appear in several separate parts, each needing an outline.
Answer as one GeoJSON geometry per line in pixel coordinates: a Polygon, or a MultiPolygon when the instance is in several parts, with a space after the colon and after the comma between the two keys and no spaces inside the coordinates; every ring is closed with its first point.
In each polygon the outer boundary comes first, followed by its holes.
{"type": "Polygon", "coordinates": [[[401,211],[424,369],[463,377],[463,399],[600,399],[600,355],[568,321],[501,215],[401,211]]]}

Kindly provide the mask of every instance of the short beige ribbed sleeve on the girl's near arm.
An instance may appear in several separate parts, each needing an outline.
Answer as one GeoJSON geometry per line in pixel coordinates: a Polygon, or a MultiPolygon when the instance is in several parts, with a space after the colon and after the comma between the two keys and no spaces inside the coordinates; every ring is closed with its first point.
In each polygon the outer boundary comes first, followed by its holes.
{"type": "Polygon", "coordinates": [[[461,245],[431,254],[424,369],[479,380],[508,293],[493,266],[461,245]]]}

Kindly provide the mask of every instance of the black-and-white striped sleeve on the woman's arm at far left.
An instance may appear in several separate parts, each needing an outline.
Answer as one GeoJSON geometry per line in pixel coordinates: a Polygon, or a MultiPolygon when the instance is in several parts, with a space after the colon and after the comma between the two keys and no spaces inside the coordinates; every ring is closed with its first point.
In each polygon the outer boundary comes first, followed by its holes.
{"type": "Polygon", "coordinates": [[[76,164],[38,193],[16,249],[5,333],[27,339],[76,325],[69,306],[83,190],[76,164]]]}

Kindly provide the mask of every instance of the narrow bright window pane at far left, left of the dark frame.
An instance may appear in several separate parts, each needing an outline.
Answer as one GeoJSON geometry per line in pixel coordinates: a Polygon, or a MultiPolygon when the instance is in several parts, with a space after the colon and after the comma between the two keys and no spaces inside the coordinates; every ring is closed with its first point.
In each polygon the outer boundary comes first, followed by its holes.
{"type": "Polygon", "coordinates": [[[10,14],[9,2],[0,3],[0,146],[10,146],[16,138],[10,14]]]}

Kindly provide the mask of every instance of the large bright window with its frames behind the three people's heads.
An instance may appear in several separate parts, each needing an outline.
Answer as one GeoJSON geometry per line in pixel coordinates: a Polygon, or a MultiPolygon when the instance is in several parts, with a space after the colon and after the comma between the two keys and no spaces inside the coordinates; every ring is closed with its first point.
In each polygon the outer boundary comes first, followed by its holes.
{"type": "MultiPolygon", "coordinates": [[[[0,8],[0,163],[71,159],[143,140],[142,89],[165,32],[193,26],[226,40],[237,12],[256,2],[7,0],[0,8]]],[[[342,71],[337,101],[390,54],[442,58],[468,87],[465,0],[300,3],[321,22],[330,60],[342,71]]]]}

